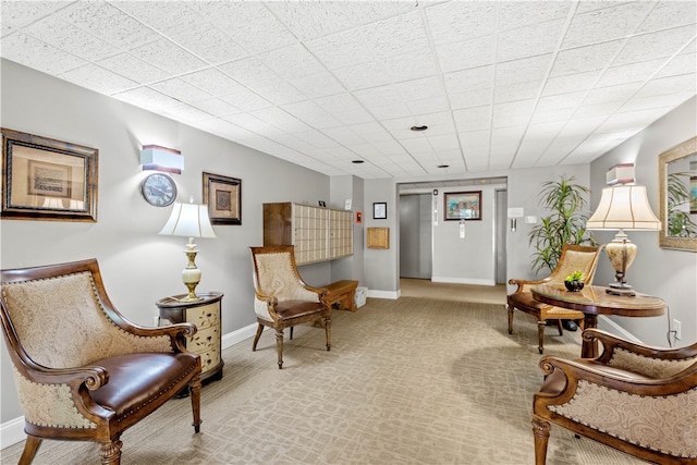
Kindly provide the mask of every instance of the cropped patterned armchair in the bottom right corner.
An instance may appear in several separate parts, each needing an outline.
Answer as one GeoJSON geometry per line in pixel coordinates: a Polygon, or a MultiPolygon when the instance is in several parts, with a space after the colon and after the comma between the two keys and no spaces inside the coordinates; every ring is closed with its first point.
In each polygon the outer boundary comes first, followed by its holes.
{"type": "Polygon", "coordinates": [[[697,344],[656,348],[597,329],[583,336],[602,343],[599,357],[540,360],[536,464],[546,463],[550,423],[646,461],[697,464],[697,344]]]}

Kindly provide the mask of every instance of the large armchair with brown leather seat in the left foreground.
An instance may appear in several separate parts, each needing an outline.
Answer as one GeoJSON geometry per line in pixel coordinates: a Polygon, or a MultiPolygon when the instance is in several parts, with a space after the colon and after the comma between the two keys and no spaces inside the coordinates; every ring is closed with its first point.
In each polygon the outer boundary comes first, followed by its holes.
{"type": "Polygon", "coordinates": [[[183,346],[196,327],[127,321],[95,259],[2,270],[0,280],[27,433],[21,464],[32,463],[44,439],[95,441],[102,464],[119,464],[122,432],[187,388],[198,432],[200,359],[183,346]]]}

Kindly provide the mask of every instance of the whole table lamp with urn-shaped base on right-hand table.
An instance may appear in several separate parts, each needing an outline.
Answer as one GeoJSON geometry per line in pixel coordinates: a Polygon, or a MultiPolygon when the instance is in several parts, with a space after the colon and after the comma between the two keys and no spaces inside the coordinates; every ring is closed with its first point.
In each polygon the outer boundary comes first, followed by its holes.
{"type": "Polygon", "coordinates": [[[615,282],[610,284],[608,293],[636,295],[626,283],[626,271],[636,257],[636,244],[627,238],[625,230],[660,231],[661,222],[649,206],[646,187],[638,185],[616,185],[602,189],[600,204],[586,222],[588,230],[617,231],[606,253],[614,269],[615,282]]]}

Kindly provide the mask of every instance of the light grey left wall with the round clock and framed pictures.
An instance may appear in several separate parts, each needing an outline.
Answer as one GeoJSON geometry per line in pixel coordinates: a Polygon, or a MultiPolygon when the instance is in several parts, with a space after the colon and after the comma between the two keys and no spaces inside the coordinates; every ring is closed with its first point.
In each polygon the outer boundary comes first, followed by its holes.
{"type": "MultiPolygon", "coordinates": [[[[248,247],[262,243],[261,204],[316,205],[329,198],[330,179],[13,62],[1,64],[3,127],[99,149],[99,211],[96,223],[3,219],[0,266],[95,257],[115,307],[136,323],[152,325],[155,302],[186,291],[180,276],[186,266],[186,238],[158,235],[171,207],[146,204],[139,191],[147,174],[139,167],[140,145],[162,145],[181,150],[185,158],[184,173],[173,175],[180,200],[194,195],[201,201],[203,171],[242,180],[242,225],[213,225],[217,238],[197,241],[196,262],[203,270],[198,290],[224,293],[223,333],[254,323],[248,247]]],[[[315,285],[332,278],[328,262],[301,267],[301,273],[315,285]]],[[[348,277],[334,280],[344,278],[348,277]]],[[[7,351],[1,352],[4,423],[22,413],[11,363],[7,351]]]]}

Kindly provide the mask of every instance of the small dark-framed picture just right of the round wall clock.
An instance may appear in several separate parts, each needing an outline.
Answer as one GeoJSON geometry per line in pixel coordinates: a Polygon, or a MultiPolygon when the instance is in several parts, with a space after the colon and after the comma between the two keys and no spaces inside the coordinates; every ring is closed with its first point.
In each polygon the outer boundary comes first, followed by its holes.
{"type": "Polygon", "coordinates": [[[242,180],[204,172],[204,204],[212,224],[242,224],[242,180]]]}

